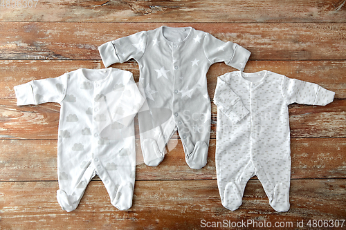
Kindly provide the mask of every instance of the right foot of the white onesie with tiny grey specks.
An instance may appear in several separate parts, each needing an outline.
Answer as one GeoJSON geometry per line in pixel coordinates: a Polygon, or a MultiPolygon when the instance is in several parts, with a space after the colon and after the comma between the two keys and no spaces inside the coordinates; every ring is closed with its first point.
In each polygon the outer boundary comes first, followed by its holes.
{"type": "Polygon", "coordinates": [[[279,183],[275,185],[273,199],[269,201],[275,211],[289,211],[289,186],[279,183]]]}

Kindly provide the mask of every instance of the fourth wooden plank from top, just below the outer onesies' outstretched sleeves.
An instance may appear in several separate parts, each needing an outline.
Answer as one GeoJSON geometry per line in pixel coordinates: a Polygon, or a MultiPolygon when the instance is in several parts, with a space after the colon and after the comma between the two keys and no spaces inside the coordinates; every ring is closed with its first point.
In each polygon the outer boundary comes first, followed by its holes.
{"type": "MultiPolygon", "coordinates": [[[[57,139],[60,105],[17,106],[15,99],[0,99],[0,139],[57,139]]],[[[212,104],[210,138],[216,135],[215,104],[212,104]]],[[[346,137],[346,100],[327,106],[289,106],[291,137],[346,137]]],[[[136,120],[135,120],[136,121],[136,120]]],[[[138,138],[138,125],[136,138],[138,138]]],[[[173,138],[178,138],[174,135],[173,138]]]]}

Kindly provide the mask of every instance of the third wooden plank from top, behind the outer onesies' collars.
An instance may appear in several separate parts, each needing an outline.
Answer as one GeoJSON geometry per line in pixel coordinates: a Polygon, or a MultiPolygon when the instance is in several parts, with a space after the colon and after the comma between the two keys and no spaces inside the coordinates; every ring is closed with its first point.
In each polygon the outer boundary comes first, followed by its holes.
{"type": "MultiPolygon", "coordinates": [[[[113,67],[130,71],[138,82],[139,69],[135,61],[113,64],[113,67]]],[[[101,61],[0,60],[0,88],[4,89],[0,91],[0,99],[15,99],[13,87],[18,84],[46,77],[57,77],[78,68],[104,68],[104,66],[101,61]]],[[[336,92],[336,99],[346,98],[346,61],[248,61],[246,65],[246,72],[264,69],[317,83],[336,92]]],[[[226,64],[211,66],[207,75],[210,98],[214,96],[217,77],[234,70],[226,64]]]]}

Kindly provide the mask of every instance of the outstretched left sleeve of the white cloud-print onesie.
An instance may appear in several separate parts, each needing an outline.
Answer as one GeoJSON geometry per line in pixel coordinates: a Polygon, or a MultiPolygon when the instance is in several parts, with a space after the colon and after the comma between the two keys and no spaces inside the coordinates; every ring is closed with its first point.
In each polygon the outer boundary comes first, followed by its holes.
{"type": "Polygon", "coordinates": [[[62,102],[65,97],[68,75],[40,79],[15,86],[17,106],[42,104],[46,102],[62,102]]]}

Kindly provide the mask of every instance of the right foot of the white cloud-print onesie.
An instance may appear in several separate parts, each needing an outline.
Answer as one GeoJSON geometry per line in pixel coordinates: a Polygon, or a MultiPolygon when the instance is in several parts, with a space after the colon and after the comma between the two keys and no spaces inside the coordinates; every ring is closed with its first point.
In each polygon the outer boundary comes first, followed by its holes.
{"type": "Polygon", "coordinates": [[[116,197],[111,201],[114,207],[119,210],[127,210],[132,206],[132,197],[134,195],[134,186],[127,182],[119,186],[116,197]]]}

